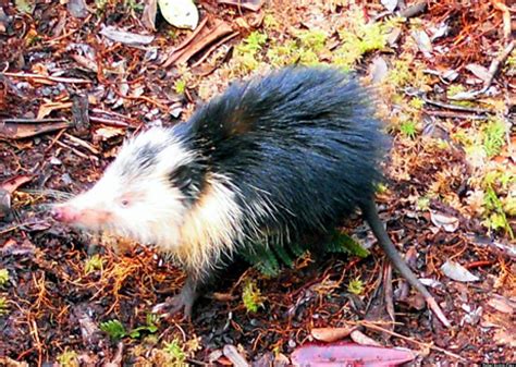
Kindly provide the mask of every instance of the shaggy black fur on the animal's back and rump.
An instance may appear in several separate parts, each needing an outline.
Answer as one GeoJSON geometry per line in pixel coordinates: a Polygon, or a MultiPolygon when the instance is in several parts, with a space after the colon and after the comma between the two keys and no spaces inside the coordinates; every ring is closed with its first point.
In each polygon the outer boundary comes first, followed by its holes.
{"type": "Polygon", "coordinates": [[[330,68],[290,68],[234,84],[174,129],[197,164],[232,179],[238,204],[267,201],[268,241],[324,233],[369,203],[386,151],[369,93],[330,68]]]}

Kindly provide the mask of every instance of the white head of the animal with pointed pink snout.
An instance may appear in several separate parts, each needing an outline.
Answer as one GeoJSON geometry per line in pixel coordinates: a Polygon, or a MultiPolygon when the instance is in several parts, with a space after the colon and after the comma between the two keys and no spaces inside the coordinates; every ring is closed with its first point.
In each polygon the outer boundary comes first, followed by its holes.
{"type": "Polygon", "coordinates": [[[196,182],[194,155],[172,130],[151,129],[126,142],[89,191],[52,209],[63,223],[142,243],[177,241],[196,182]]]}

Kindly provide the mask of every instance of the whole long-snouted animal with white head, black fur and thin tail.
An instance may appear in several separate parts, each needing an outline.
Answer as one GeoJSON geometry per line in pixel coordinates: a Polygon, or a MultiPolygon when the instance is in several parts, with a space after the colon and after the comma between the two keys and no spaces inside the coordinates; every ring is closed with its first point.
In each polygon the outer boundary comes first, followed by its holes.
{"type": "Polygon", "coordinates": [[[361,209],[428,301],[378,219],[388,139],[368,94],[334,69],[233,84],[189,121],[126,142],[101,180],[57,206],[54,218],[173,256],[188,274],[173,304],[189,313],[199,285],[244,246],[323,235],[361,209]]]}

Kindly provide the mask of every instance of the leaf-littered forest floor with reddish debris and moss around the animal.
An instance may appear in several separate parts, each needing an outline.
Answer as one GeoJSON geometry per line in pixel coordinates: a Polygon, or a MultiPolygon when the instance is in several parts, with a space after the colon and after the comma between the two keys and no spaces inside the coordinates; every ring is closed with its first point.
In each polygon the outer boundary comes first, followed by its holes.
{"type": "Polygon", "coordinates": [[[152,3],[0,3],[0,365],[516,362],[516,9],[201,0],[191,30],[155,22],[152,3]],[[358,216],[342,230],[369,256],[307,254],[278,277],[229,276],[191,321],[150,314],[184,280],[159,254],[49,217],[124,137],[294,63],[376,86],[393,137],[380,213],[451,328],[392,272],[358,216]]]}

